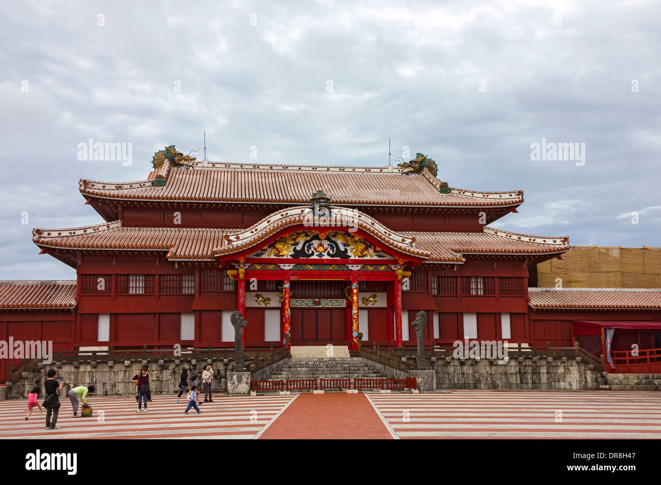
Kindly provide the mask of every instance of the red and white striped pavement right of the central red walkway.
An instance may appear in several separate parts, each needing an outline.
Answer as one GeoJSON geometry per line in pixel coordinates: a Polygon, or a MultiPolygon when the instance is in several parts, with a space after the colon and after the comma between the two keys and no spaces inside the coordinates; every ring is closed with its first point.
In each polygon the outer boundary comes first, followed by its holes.
{"type": "Polygon", "coordinates": [[[447,390],[368,397],[397,438],[661,438],[661,393],[447,390]]]}

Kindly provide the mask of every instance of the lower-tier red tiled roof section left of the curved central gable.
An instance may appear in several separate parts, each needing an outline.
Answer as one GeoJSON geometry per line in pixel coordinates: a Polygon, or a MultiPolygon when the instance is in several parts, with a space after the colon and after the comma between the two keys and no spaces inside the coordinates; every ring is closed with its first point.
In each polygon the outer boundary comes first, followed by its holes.
{"type": "Polygon", "coordinates": [[[42,247],[168,251],[167,257],[173,260],[212,260],[212,251],[226,243],[225,234],[235,232],[210,228],[125,228],[118,220],[81,228],[35,229],[32,241],[42,247]]]}

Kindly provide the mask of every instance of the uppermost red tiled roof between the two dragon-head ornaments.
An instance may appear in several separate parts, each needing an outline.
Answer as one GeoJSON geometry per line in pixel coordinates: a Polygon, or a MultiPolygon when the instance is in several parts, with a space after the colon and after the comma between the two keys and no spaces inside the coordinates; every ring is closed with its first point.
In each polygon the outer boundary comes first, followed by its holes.
{"type": "MultiPolygon", "coordinates": [[[[165,167],[165,166],[164,166],[165,167]]],[[[106,199],[305,204],[321,189],[336,205],[419,207],[516,207],[523,191],[480,192],[450,188],[427,170],[407,176],[398,168],[215,164],[161,168],[144,181],[113,183],[81,179],[81,193],[106,199]],[[153,179],[163,177],[165,186],[153,179]]]]}

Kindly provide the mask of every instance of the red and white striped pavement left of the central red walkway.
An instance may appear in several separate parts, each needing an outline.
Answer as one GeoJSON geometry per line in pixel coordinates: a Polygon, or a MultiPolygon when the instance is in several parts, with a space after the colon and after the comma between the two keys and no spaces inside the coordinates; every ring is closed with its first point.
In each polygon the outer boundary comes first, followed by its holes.
{"type": "Polygon", "coordinates": [[[122,438],[191,438],[251,439],[264,429],[295,399],[289,396],[228,396],[215,395],[213,403],[200,405],[184,414],[188,402],[183,395],[153,395],[147,412],[136,413],[134,395],[88,396],[94,416],[73,418],[69,399],[60,396],[59,430],[46,431],[46,412],[34,408],[30,420],[25,420],[27,399],[0,401],[0,438],[3,439],[122,439],[122,438]]]}

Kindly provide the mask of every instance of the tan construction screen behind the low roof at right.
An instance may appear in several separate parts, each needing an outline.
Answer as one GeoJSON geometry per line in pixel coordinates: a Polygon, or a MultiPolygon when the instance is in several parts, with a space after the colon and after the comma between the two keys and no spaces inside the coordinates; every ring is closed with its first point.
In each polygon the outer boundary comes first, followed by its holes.
{"type": "Polygon", "coordinates": [[[572,246],[537,265],[537,286],[661,288],[661,247],[572,246]]]}

